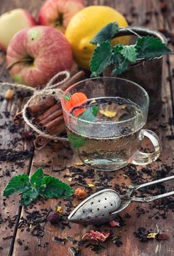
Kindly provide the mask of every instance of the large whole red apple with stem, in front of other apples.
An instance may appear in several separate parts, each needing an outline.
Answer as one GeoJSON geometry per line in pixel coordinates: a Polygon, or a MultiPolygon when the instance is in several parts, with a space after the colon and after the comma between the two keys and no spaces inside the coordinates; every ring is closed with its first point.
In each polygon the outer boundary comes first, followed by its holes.
{"type": "Polygon", "coordinates": [[[10,75],[27,86],[41,86],[62,70],[72,67],[72,51],[63,33],[50,26],[19,31],[9,42],[7,65],[10,75]]]}

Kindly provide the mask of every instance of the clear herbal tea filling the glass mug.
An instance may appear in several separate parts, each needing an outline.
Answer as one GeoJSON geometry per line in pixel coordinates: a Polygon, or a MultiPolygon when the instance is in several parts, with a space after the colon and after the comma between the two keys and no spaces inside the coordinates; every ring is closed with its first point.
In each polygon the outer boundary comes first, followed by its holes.
{"type": "Polygon", "coordinates": [[[67,129],[71,146],[78,152],[82,162],[90,167],[95,167],[98,170],[119,169],[127,165],[133,152],[140,148],[138,131],[141,129],[141,118],[138,119],[138,129],[135,126],[133,128],[124,127],[119,136],[112,135],[111,129],[103,129],[103,131],[95,129],[94,131],[90,128],[90,122],[100,122],[100,124],[101,122],[103,124],[111,122],[112,124],[113,122],[124,122],[124,120],[137,116],[141,117],[141,109],[130,100],[120,97],[88,99],[82,105],[75,106],[71,110],[71,114],[78,115],[78,118],[89,122],[89,126],[87,124],[85,128],[88,135],[80,126],[78,132],[74,132],[69,127],[67,129]],[[102,136],[100,136],[101,133],[102,136]]]}

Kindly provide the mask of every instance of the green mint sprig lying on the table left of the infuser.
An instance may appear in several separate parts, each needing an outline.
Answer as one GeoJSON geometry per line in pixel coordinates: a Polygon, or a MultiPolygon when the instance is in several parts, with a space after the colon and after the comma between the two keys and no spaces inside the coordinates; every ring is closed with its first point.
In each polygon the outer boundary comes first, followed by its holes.
{"type": "Polygon", "coordinates": [[[30,179],[25,173],[13,177],[4,189],[3,195],[7,197],[16,192],[22,194],[20,204],[26,206],[39,195],[46,198],[71,197],[74,189],[58,178],[44,176],[43,170],[39,168],[30,179]]]}

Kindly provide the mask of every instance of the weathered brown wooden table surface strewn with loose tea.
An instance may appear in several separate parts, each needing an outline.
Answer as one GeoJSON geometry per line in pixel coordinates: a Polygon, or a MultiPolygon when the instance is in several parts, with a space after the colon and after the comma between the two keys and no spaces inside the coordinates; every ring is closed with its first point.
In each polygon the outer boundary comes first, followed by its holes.
{"type": "MultiPolygon", "coordinates": [[[[136,26],[149,26],[153,29],[167,29],[169,31],[174,30],[173,23],[173,11],[174,11],[174,1],[166,0],[168,4],[168,11],[161,12],[159,0],[93,0],[86,1],[87,5],[90,4],[106,4],[111,7],[115,7],[116,10],[122,12],[129,23],[136,26]]],[[[19,1],[19,0],[7,0],[0,1],[0,13],[12,10],[17,7],[25,8],[30,11],[34,16],[37,16],[39,7],[41,6],[42,0],[30,0],[30,1],[19,1]]],[[[172,45],[170,45],[172,48],[172,45]]],[[[174,160],[174,143],[170,140],[172,137],[167,137],[173,135],[173,113],[174,113],[174,101],[173,101],[173,67],[174,59],[173,56],[164,58],[164,68],[163,68],[163,89],[162,89],[162,112],[159,117],[151,122],[149,122],[148,127],[155,130],[159,135],[162,142],[162,155],[157,162],[154,162],[151,166],[147,167],[147,170],[152,171],[152,176],[156,173],[166,173],[170,176],[173,173],[173,160],[174,160]]],[[[0,53],[0,79],[2,81],[10,81],[9,75],[7,73],[5,65],[4,53],[0,53]]],[[[20,98],[15,98],[13,101],[2,100],[0,102],[0,148],[12,148],[15,151],[30,150],[33,146],[32,141],[21,140],[21,135],[23,134],[25,128],[20,128],[14,130],[10,126],[12,120],[12,114],[14,114],[18,108],[22,105],[20,98]],[[7,128],[4,124],[9,124],[7,128]]],[[[74,173],[69,167],[74,166],[76,163],[72,152],[69,150],[68,146],[57,146],[51,145],[46,146],[41,151],[33,151],[33,154],[28,155],[25,159],[17,159],[16,162],[0,162],[0,190],[3,191],[7,182],[12,176],[20,173],[28,173],[29,176],[36,170],[36,167],[42,166],[44,168],[44,173],[57,176],[68,184],[74,182],[68,181],[67,176],[71,176],[74,173]],[[60,168],[61,165],[66,165],[66,169],[63,171],[55,172],[60,168]],[[67,175],[67,176],[65,176],[67,175]],[[64,177],[63,177],[64,176],[64,177]]],[[[80,167],[85,171],[85,167],[80,167]]],[[[140,181],[140,173],[147,173],[146,169],[141,167],[129,167],[135,174],[134,181],[140,181]],[[131,169],[132,168],[132,169],[131,169]],[[136,174],[137,173],[137,174],[136,174]],[[139,180],[138,180],[139,178],[139,180]]],[[[102,176],[112,176],[109,185],[114,187],[114,184],[124,184],[126,187],[130,184],[130,172],[124,170],[119,170],[115,173],[96,175],[93,178],[87,179],[87,183],[95,184],[95,182],[100,182],[102,189],[102,176]]],[[[82,171],[83,171],[82,170],[82,171]]],[[[133,176],[131,176],[133,177],[133,176]]],[[[144,180],[151,180],[151,176],[145,174],[144,180]]],[[[159,178],[159,176],[157,175],[159,178]]],[[[74,185],[74,188],[78,185],[74,185]]],[[[167,184],[167,189],[173,188],[173,182],[167,184]]],[[[90,189],[90,193],[95,192],[95,187],[90,189]]],[[[7,256],[55,256],[55,255],[71,255],[68,252],[68,247],[72,244],[67,241],[65,246],[62,246],[54,241],[52,238],[58,236],[64,238],[66,236],[72,236],[77,240],[82,238],[82,235],[88,230],[112,230],[113,236],[120,236],[119,240],[122,241],[122,246],[116,246],[111,240],[106,242],[106,249],[100,251],[101,256],[172,256],[174,255],[174,245],[173,245],[173,228],[174,228],[174,216],[173,211],[170,209],[159,210],[153,208],[154,204],[146,205],[145,203],[132,203],[126,211],[121,215],[124,219],[126,225],[121,227],[110,227],[109,225],[103,225],[101,227],[83,227],[82,225],[71,224],[71,228],[68,226],[61,230],[60,227],[55,227],[50,225],[48,222],[44,225],[44,222],[38,222],[41,230],[44,230],[44,236],[33,236],[34,227],[36,225],[28,224],[25,222],[27,217],[30,217],[32,211],[39,211],[40,214],[44,214],[44,210],[49,210],[50,208],[55,208],[58,203],[62,202],[63,211],[66,211],[67,202],[63,203],[63,200],[36,200],[32,208],[21,208],[19,206],[19,197],[17,195],[12,195],[8,199],[1,196],[0,200],[0,255],[7,256]],[[125,214],[130,214],[125,215],[125,214]],[[154,214],[154,216],[153,216],[154,214]],[[140,215],[138,217],[138,215],[140,215]],[[158,218],[159,217],[159,218],[158,218]],[[167,219],[165,219],[167,217],[167,219]],[[139,227],[145,227],[149,232],[159,232],[167,233],[169,239],[166,241],[157,241],[156,239],[151,239],[146,243],[139,241],[138,238],[133,234],[138,230],[139,227]],[[33,235],[32,235],[33,234],[33,235]]],[[[74,205],[79,203],[78,200],[74,200],[74,205]]],[[[123,222],[122,222],[123,223],[123,222]]],[[[35,223],[36,224],[36,223],[35,223]]],[[[43,231],[42,231],[43,232],[43,231]]],[[[41,235],[41,233],[40,233],[41,235]]],[[[43,234],[42,234],[43,235],[43,234]]],[[[81,248],[82,255],[92,256],[95,252],[91,248],[81,248]]]]}

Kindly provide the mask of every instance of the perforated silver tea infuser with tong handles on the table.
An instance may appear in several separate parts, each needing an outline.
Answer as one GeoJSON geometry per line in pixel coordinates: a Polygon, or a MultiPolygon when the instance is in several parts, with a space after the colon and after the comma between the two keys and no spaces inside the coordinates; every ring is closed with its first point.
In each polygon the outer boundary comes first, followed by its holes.
{"type": "Polygon", "coordinates": [[[95,192],[90,197],[87,197],[79,206],[76,206],[74,211],[68,216],[68,220],[79,224],[101,224],[110,222],[116,218],[119,212],[130,205],[132,201],[137,202],[151,202],[159,198],[174,195],[174,191],[166,192],[162,195],[154,195],[149,197],[132,197],[133,192],[143,187],[148,187],[163,181],[170,181],[174,176],[167,178],[160,178],[157,181],[150,181],[138,186],[130,185],[125,195],[119,195],[113,189],[102,189],[95,192]]]}

